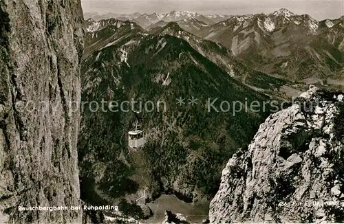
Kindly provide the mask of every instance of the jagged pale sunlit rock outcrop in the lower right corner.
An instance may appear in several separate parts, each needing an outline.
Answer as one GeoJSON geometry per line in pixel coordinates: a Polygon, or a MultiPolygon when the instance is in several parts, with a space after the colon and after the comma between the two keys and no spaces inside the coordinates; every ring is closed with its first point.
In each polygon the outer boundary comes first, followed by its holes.
{"type": "Polygon", "coordinates": [[[343,95],[312,87],[228,161],[211,223],[344,221],[343,95]]]}

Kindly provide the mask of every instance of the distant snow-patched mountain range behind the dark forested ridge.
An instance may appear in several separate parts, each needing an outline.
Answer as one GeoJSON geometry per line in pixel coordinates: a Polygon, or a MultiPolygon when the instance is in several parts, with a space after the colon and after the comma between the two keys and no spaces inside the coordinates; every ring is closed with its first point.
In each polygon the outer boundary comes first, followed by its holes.
{"type": "Polygon", "coordinates": [[[297,15],[282,8],[270,14],[221,16],[172,11],[127,19],[147,32],[178,23],[182,30],[224,45],[248,67],[270,76],[344,86],[344,16],[316,21],[308,14],[297,15]]]}

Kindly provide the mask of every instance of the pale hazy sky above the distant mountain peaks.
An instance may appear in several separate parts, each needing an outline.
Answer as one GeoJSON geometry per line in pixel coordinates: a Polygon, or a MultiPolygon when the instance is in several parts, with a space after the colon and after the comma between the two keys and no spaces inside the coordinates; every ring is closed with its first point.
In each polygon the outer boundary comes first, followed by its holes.
{"type": "Polygon", "coordinates": [[[185,10],[201,14],[256,14],[288,8],[295,14],[309,14],[316,20],[336,19],[344,15],[344,0],[81,0],[84,12],[129,14],[166,13],[185,10]]]}

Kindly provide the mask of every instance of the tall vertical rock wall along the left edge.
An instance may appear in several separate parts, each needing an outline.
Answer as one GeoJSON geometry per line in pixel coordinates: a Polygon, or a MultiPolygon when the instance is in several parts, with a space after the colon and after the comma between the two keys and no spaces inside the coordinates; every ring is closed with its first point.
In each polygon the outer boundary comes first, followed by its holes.
{"type": "Polygon", "coordinates": [[[0,1],[0,223],[80,223],[79,0],[0,1]],[[76,112],[75,112],[76,111],[76,112]]]}

